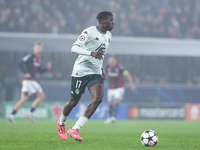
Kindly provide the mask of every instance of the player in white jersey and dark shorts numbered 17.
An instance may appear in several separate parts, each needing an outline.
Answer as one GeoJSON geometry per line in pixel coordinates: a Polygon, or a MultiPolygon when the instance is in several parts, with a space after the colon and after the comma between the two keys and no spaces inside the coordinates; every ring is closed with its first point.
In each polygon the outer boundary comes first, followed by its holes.
{"type": "Polygon", "coordinates": [[[81,33],[73,44],[71,51],[79,54],[75,61],[71,80],[71,98],[64,106],[63,113],[57,121],[58,134],[63,140],[67,140],[67,134],[82,141],[80,129],[91,118],[99,104],[102,102],[104,93],[103,59],[110,44],[114,27],[111,12],[102,11],[97,15],[98,26],[91,26],[81,33]],[[87,106],[84,114],[80,116],[75,125],[67,131],[65,122],[71,110],[78,104],[81,95],[88,87],[92,100],[87,106]]]}

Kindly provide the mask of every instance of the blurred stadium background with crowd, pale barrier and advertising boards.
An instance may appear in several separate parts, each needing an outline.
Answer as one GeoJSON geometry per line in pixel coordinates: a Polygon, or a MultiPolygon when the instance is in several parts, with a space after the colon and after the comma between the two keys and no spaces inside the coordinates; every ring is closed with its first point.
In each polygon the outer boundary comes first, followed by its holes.
{"type": "MultiPolygon", "coordinates": [[[[135,93],[126,87],[118,119],[200,120],[198,0],[87,0],[87,5],[83,0],[0,0],[1,117],[20,96],[17,63],[36,41],[44,43],[43,62],[51,61],[53,68],[38,76],[46,100],[35,115],[60,115],[70,94],[70,74],[77,57],[70,47],[84,28],[97,25],[95,17],[101,10],[115,16],[107,58],[116,55],[137,86],[135,93]]],[[[77,118],[89,101],[86,92],[70,118],[77,118]]],[[[19,111],[18,118],[24,117],[28,106],[19,111]]],[[[106,112],[105,92],[93,119],[105,119],[106,112]]]]}

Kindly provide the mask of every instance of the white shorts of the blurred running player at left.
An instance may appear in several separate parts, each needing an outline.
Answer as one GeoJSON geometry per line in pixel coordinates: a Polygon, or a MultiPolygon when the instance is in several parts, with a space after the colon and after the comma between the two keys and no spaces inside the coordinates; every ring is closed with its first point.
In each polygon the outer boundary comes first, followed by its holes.
{"type": "Polygon", "coordinates": [[[27,92],[30,96],[37,92],[43,92],[43,89],[41,85],[35,80],[23,80],[21,92],[27,92]]]}

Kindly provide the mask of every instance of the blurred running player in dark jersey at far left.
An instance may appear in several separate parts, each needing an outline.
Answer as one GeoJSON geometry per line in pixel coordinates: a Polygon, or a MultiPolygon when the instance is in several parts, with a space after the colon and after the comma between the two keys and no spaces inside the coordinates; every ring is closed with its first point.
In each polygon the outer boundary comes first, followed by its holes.
{"type": "Polygon", "coordinates": [[[44,100],[45,95],[43,93],[42,87],[36,81],[37,72],[43,73],[51,69],[51,63],[47,62],[46,67],[41,67],[41,53],[43,50],[42,43],[35,43],[33,47],[33,53],[28,54],[19,62],[19,68],[23,72],[21,98],[16,103],[11,114],[7,116],[8,120],[12,123],[15,122],[14,115],[17,111],[27,102],[29,96],[36,93],[37,98],[33,101],[30,111],[27,112],[27,119],[34,122],[33,112],[39,106],[39,104],[44,100]]]}

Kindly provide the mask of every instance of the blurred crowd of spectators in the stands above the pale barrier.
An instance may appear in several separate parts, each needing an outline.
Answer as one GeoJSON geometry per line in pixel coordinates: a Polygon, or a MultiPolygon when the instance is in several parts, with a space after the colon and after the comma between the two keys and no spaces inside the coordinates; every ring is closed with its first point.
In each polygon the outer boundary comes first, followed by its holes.
{"type": "Polygon", "coordinates": [[[200,38],[200,0],[0,0],[0,32],[80,33],[102,10],[114,35],[200,38]]]}

